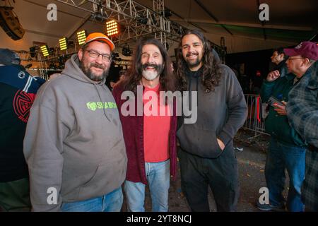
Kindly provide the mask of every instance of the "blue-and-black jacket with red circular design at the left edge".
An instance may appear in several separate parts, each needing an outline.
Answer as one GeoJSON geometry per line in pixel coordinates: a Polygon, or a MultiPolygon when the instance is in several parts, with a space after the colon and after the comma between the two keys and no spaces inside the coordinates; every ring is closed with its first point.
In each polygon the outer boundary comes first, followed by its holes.
{"type": "Polygon", "coordinates": [[[28,177],[23,138],[35,93],[44,82],[18,66],[0,66],[0,183],[28,177]]]}

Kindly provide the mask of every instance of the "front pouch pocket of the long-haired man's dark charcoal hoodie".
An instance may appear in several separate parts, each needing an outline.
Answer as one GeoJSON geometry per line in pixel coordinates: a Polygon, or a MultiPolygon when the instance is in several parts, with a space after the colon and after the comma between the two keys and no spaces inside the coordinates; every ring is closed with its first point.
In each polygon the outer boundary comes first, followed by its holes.
{"type": "Polygon", "coordinates": [[[181,148],[193,155],[216,158],[222,153],[222,149],[216,141],[216,131],[183,124],[177,131],[177,137],[181,148]]]}

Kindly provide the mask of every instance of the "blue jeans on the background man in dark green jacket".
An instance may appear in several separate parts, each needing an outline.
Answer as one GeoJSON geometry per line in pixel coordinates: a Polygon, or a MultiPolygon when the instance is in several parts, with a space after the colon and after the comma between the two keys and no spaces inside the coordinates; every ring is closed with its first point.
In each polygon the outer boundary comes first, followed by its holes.
{"type": "Polygon", "coordinates": [[[266,158],[265,177],[272,206],[281,206],[284,201],[282,192],[285,185],[285,169],[287,169],[290,180],[287,209],[293,212],[304,210],[300,188],[305,179],[305,151],[306,148],[285,145],[271,138],[266,158]]]}

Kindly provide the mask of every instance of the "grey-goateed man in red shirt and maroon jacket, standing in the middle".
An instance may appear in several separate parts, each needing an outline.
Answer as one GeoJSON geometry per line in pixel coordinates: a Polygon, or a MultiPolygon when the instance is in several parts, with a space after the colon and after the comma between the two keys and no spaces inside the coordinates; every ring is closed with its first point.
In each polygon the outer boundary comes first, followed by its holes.
{"type": "Polygon", "coordinates": [[[141,40],[136,44],[131,69],[113,90],[128,157],[124,191],[132,212],[145,210],[146,184],[151,191],[152,210],[168,210],[170,174],[175,176],[177,165],[177,116],[175,107],[165,103],[160,91],[175,91],[170,59],[158,40],[141,40]],[[126,100],[126,94],[132,97],[126,100]]]}

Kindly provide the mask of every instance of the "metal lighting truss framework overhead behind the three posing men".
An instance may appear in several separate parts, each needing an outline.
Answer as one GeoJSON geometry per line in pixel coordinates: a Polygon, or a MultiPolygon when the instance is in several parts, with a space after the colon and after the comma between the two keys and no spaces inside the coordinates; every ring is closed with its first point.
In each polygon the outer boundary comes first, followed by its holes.
{"type": "MultiPolygon", "coordinates": [[[[134,42],[143,36],[157,38],[168,49],[173,42],[179,42],[181,35],[187,30],[182,25],[165,17],[164,0],[153,0],[153,10],[133,0],[55,0],[80,10],[90,13],[88,18],[98,23],[106,20],[116,20],[119,23],[119,35],[110,37],[119,47],[124,47],[129,42],[134,42]]],[[[86,18],[86,19],[88,19],[86,18]]],[[[211,43],[217,51],[221,49],[217,44],[211,43]]],[[[40,64],[42,78],[48,79],[47,72],[50,64],[55,65],[59,59],[69,56],[76,51],[76,42],[66,52],[59,51],[58,47],[52,48],[49,57],[42,57],[39,49],[35,51],[35,60],[40,64]]],[[[219,51],[218,51],[219,52],[219,51]]],[[[30,52],[20,52],[23,61],[30,61],[30,52]]],[[[223,57],[223,56],[221,56],[223,57]]],[[[116,64],[127,66],[129,61],[116,60],[116,64]]],[[[32,69],[30,69],[32,70],[32,69]]],[[[52,69],[56,71],[56,69],[52,69]]]]}

